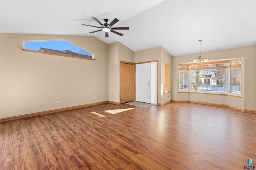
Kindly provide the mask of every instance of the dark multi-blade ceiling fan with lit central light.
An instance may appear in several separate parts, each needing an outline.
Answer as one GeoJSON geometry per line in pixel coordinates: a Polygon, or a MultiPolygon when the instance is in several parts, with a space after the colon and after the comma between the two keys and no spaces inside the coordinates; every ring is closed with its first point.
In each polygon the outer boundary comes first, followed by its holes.
{"type": "Polygon", "coordinates": [[[97,26],[93,26],[93,25],[87,25],[87,24],[83,24],[83,23],[82,23],[82,25],[90,26],[90,27],[96,27],[96,28],[101,28],[101,29],[99,29],[97,31],[92,31],[90,33],[95,33],[95,32],[98,32],[98,31],[104,31],[105,32],[105,37],[108,37],[108,32],[110,31],[112,33],[116,33],[117,35],[122,36],[124,34],[116,32],[113,29],[129,29],[129,27],[112,27],[115,23],[117,23],[119,21],[116,18],[113,21],[111,21],[109,24],[107,23],[108,22],[107,18],[104,19],[104,21],[106,22],[104,24],[102,24],[96,17],[92,17],[92,19],[94,19],[96,22],[98,22],[101,25],[101,27],[97,27],[97,26]]]}

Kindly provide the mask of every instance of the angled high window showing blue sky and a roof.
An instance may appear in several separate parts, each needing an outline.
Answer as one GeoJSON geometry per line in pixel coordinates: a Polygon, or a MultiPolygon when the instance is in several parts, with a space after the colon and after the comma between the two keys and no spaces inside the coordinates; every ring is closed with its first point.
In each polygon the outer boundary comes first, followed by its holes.
{"type": "Polygon", "coordinates": [[[94,56],[89,51],[70,43],[67,40],[52,41],[24,41],[24,51],[31,51],[65,57],[80,59],[93,59],[94,56]]]}

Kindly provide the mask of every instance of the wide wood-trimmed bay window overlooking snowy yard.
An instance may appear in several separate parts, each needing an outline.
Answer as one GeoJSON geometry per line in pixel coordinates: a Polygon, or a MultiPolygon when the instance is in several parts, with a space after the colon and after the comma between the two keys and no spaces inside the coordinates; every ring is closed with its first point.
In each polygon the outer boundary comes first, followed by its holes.
{"type": "Polygon", "coordinates": [[[179,91],[241,96],[241,59],[180,64],[179,91]]]}

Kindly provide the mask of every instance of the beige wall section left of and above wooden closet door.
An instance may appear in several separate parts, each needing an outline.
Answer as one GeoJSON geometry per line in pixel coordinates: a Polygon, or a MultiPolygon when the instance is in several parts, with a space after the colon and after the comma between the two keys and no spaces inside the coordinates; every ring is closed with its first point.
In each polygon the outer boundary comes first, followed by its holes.
{"type": "Polygon", "coordinates": [[[134,63],[134,51],[117,41],[109,45],[108,65],[108,100],[116,103],[120,102],[120,61],[134,63]]]}

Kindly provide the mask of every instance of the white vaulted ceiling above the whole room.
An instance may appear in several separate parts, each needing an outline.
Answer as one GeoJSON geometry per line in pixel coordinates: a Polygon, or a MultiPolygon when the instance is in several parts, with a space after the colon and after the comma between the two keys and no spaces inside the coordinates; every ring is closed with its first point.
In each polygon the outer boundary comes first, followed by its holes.
{"type": "Polygon", "coordinates": [[[0,0],[0,33],[95,36],[133,51],[162,46],[170,55],[256,44],[256,0],[0,0]],[[108,18],[123,36],[100,26],[108,18]]]}

